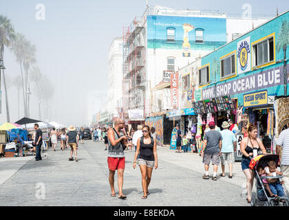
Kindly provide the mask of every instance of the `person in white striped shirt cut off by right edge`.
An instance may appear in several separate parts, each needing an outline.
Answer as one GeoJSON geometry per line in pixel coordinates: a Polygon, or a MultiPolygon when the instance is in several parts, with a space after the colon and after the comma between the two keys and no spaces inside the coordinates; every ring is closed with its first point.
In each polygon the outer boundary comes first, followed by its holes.
{"type": "Polygon", "coordinates": [[[286,130],[281,131],[276,140],[276,154],[281,156],[280,170],[283,173],[283,180],[286,190],[289,192],[289,122],[286,130]],[[282,153],[280,148],[282,146],[282,153]]]}

